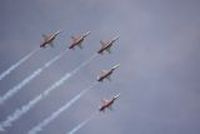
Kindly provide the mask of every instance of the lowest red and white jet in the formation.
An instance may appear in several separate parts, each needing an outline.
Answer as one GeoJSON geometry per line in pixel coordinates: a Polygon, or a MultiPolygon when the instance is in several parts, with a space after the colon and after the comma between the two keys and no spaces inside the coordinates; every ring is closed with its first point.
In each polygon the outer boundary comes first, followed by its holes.
{"type": "Polygon", "coordinates": [[[99,111],[104,112],[107,108],[112,110],[112,105],[115,102],[115,100],[119,98],[119,96],[120,96],[120,94],[117,94],[117,95],[113,96],[113,98],[110,100],[103,99],[102,105],[99,107],[99,111]]]}

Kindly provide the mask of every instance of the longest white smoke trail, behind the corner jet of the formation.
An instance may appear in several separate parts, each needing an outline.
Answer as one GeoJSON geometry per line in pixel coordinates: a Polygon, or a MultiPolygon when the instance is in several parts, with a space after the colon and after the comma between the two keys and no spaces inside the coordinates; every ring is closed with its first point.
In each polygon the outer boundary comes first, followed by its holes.
{"type": "Polygon", "coordinates": [[[45,98],[51,91],[55,90],[58,86],[62,85],[66,80],[68,80],[71,76],[76,74],[82,67],[89,64],[97,54],[94,54],[87,61],[83,62],[79,67],[75,68],[71,73],[66,73],[61,79],[56,81],[51,87],[46,89],[43,93],[39,94],[37,97],[29,101],[28,104],[23,105],[21,108],[18,108],[13,114],[7,116],[6,120],[0,122],[0,131],[5,131],[5,127],[11,126],[11,124],[19,119],[22,115],[27,113],[31,108],[33,108],[37,103],[39,103],[43,98],[45,98]]]}

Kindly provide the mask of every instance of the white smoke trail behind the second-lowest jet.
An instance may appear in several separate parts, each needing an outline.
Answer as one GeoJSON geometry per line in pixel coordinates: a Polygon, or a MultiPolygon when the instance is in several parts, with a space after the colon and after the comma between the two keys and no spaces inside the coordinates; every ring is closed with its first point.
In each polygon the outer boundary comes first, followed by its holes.
{"type": "Polygon", "coordinates": [[[97,83],[93,83],[88,88],[81,91],[78,95],[76,95],[74,98],[72,98],[68,103],[66,103],[64,106],[62,106],[60,109],[58,109],[56,112],[52,113],[51,116],[40,122],[37,126],[33,127],[28,134],[36,134],[39,131],[42,131],[42,129],[47,126],[49,123],[51,123],[54,119],[56,119],[61,113],[63,113],[65,110],[67,110],[70,106],[72,106],[76,101],[78,101],[81,96],[86,94],[90,89],[92,89],[97,83]]]}

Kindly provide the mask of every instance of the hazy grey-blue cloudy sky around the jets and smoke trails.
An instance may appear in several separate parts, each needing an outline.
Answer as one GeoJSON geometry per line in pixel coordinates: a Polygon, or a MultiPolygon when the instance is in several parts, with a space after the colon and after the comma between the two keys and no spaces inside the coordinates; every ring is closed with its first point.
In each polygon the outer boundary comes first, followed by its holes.
{"type": "Polygon", "coordinates": [[[13,98],[0,105],[0,122],[72,71],[100,47],[120,39],[6,129],[26,134],[90,86],[102,69],[120,63],[112,82],[100,83],[41,131],[65,134],[120,92],[114,110],[98,114],[79,134],[200,133],[199,0],[2,0],[0,72],[39,47],[42,34],[63,30],[54,48],[41,49],[0,81],[0,95],[62,51],[70,36],[90,30],[84,49],[68,51],[13,98]]]}

